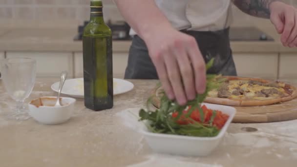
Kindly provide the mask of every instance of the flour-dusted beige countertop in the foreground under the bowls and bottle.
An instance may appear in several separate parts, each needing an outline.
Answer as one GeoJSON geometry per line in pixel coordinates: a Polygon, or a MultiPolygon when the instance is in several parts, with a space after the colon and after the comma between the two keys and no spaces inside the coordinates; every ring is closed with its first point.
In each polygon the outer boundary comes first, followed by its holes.
{"type": "MultiPolygon", "coordinates": [[[[39,78],[26,100],[53,96],[58,79],[39,78]]],[[[61,125],[5,120],[15,103],[0,80],[0,162],[3,167],[295,167],[297,120],[269,124],[231,124],[208,157],[156,154],[143,136],[116,113],[143,107],[154,80],[131,80],[134,89],[115,96],[112,109],[94,112],[77,99],[73,117],[61,125]],[[254,127],[255,132],[243,131],[254,127]]]]}

